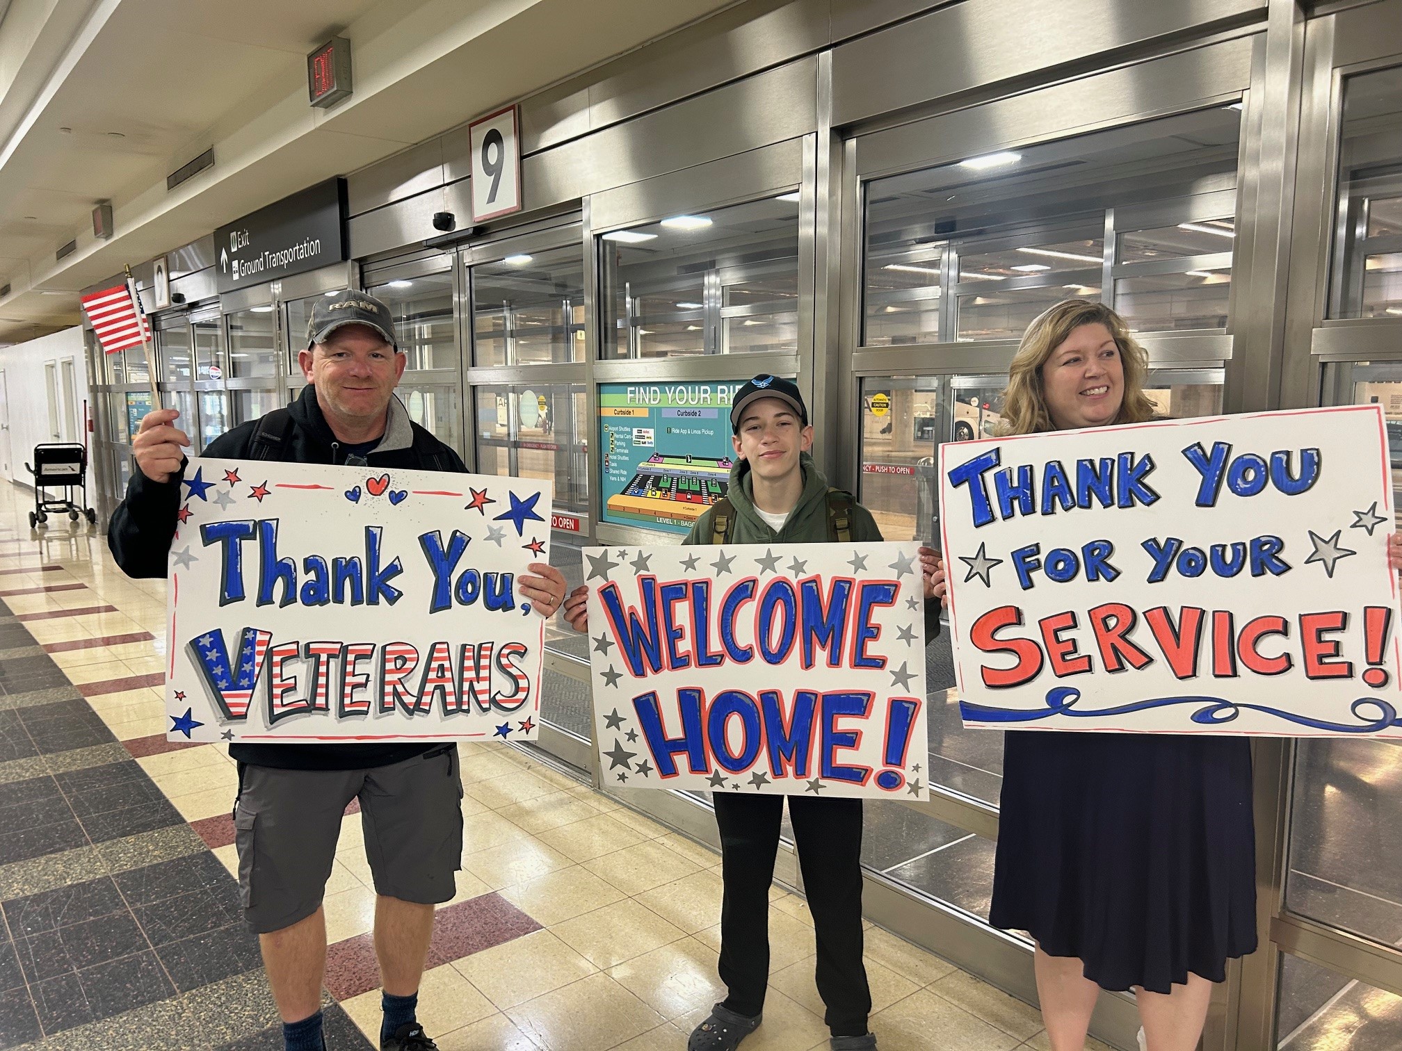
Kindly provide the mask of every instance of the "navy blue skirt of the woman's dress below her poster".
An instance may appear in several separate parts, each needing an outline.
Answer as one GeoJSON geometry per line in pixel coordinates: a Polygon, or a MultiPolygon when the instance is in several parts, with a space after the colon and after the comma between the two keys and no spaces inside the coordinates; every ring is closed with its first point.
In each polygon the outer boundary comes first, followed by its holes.
{"type": "Polygon", "coordinates": [[[1105,989],[1225,978],[1256,947],[1251,741],[1009,730],[990,922],[1105,989]]]}

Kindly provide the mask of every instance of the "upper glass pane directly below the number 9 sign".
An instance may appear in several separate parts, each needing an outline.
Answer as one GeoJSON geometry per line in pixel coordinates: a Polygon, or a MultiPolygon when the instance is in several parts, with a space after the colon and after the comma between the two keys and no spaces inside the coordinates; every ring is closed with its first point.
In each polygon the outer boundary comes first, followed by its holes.
{"type": "Polygon", "coordinates": [[[470,277],[477,364],[583,360],[585,261],[578,245],[478,263],[470,277]]]}

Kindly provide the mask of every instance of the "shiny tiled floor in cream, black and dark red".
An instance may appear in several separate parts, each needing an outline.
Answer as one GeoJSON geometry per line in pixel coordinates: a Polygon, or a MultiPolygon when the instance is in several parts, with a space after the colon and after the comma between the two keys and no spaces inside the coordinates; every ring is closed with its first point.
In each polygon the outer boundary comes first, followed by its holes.
{"type": "MultiPolygon", "coordinates": [[[[165,584],[0,483],[0,1048],[279,1048],[244,929],[224,748],[165,741],[165,584]],[[53,518],[50,518],[53,521],[53,518]]],[[[419,1017],[444,1051],[680,1050],[721,995],[719,858],[508,746],[463,747],[465,848],[419,1017]]],[[[331,881],[328,1047],[373,1047],[374,893],[355,804],[331,881]]],[[[746,1051],[826,1048],[813,932],[773,891],[746,1051]]],[[[1032,1008],[868,935],[885,1051],[1047,1048],[1032,1008]]]]}

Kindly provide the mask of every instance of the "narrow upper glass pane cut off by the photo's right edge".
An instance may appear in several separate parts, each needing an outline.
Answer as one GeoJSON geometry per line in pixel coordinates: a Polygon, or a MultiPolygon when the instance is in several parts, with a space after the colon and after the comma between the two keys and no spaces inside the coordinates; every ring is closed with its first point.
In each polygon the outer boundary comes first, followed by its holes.
{"type": "Polygon", "coordinates": [[[1402,66],[1349,77],[1330,317],[1402,317],[1402,66]]]}

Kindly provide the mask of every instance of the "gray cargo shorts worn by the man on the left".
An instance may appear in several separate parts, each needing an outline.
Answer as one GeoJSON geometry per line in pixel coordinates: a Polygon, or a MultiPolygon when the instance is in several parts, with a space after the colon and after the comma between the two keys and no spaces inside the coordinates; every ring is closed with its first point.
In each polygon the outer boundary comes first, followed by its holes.
{"type": "Polygon", "coordinates": [[[360,800],[374,893],[436,905],[456,893],[463,867],[463,779],[444,746],[372,769],[247,765],[234,804],[238,887],[248,925],[266,935],[321,905],[341,817],[360,800]]]}

